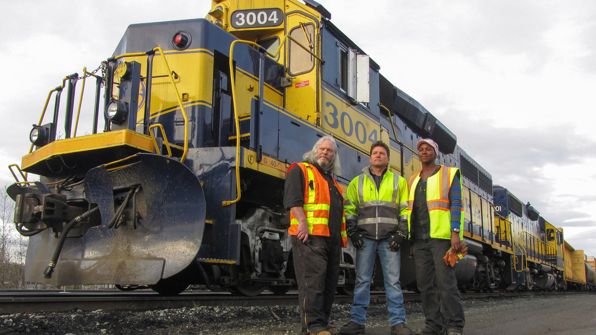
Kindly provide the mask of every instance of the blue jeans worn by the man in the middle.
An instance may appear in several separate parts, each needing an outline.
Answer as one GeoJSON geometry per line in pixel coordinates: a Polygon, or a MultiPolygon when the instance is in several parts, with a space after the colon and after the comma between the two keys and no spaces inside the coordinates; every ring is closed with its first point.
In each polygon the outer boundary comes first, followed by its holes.
{"type": "Polygon", "coordinates": [[[352,303],[352,321],[360,325],[367,324],[367,308],[371,300],[371,278],[373,277],[373,266],[378,251],[381,266],[383,267],[389,323],[392,326],[399,322],[405,323],[406,311],[403,308],[403,294],[399,286],[400,251],[392,252],[387,249],[391,237],[381,240],[373,240],[367,237],[362,239],[367,246],[362,250],[356,250],[356,286],[354,287],[354,302],[352,303]]]}

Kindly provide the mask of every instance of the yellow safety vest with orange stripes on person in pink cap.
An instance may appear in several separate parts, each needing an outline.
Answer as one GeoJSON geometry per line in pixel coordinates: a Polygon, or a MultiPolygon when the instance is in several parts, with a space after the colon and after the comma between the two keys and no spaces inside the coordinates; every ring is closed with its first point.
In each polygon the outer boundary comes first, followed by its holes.
{"type": "MultiPolygon", "coordinates": [[[[409,180],[409,200],[408,200],[408,227],[412,218],[412,209],[414,208],[414,190],[418,181],[420,181],[420,172],[413,175],[409,180]]],[[[458,168],[449,168],[441,166],[439,172],[434,173],[426,179],[426,205],[429,209],[430,218],[430,237],[451,239],[451,205],[449,204],[449,188],[455,175],[460,177],[458,168]]],[[[462,189],[463,190],[463,189],[462,189]]],[[[464,205],[461,206],[464,211],[464,205]]],[[[460,239],[464,238],[464,213],[461,213],[460,219],[460,239]]]]}

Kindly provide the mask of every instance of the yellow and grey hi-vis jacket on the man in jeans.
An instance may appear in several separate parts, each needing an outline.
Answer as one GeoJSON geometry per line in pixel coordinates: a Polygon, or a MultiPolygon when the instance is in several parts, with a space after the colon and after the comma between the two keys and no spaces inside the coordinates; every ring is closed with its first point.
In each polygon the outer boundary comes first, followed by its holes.
{"type": "Polygon", "coordinates": [[[343,210],[346,226],[356,226],[362,235],[374,240],[399,231],[408,236],[408,185],[402,176],[387,169],[377,184],[367,166],[347,187],[343,210]]]}

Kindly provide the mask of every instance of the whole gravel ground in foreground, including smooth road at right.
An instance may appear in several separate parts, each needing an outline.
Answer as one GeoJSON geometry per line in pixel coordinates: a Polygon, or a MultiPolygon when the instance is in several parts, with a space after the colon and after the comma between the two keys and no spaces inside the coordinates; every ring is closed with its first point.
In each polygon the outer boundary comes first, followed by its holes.
{"type": "MultiPolygon", "coordinates": [[[[463,301],[464,334],[596,334],[596,294],[522,296],[463,301]]],[[[419,302],[404,303],[407,323],[424,326],[419,302]]],[[[367,334],[388,334],[384,303],[368,309],[367,334]]],[[[350,319],[350,305],[334,305],[336,327],[350,319]]],[[[297,306],[207,307],[145,312],[81,310],[0,315],[0,334],[39,335],[166,335],[166,334],[292,334],[300,333],[297,306]]]]}

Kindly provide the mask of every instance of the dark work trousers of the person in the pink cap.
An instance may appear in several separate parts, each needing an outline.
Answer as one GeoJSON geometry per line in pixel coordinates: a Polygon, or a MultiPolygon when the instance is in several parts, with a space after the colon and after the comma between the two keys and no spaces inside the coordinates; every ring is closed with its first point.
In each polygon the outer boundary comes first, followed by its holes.
{"type": "MultiPolygon", "coordinates": [[[[455,268],[446,265],[443,257],[451,240],[423,238],[414,240],[416,278],[426,325],[434,331],[462,331],[465,325],[464,306],[457,289],[455,268]]],[[[455,265],[457,266],[457,265],[455,265]]]]}

